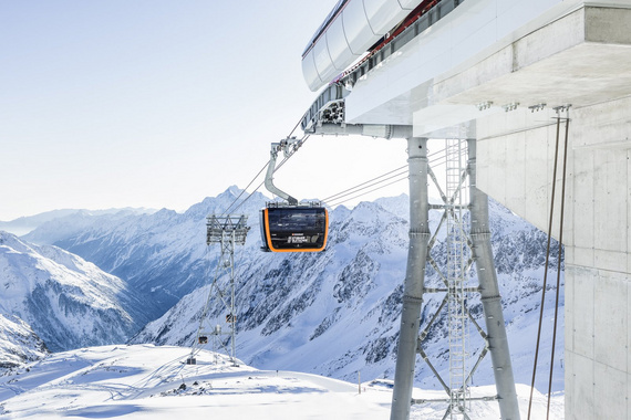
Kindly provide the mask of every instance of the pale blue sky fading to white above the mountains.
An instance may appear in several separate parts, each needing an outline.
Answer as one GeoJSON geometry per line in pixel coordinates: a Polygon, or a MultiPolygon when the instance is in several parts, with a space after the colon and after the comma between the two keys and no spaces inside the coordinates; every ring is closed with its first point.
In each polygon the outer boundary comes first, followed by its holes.
{"type": "MultiPolygon", "coordinates": [[[[244,188],[316,98],[301,53],[334,3],[0,0],[0,220],[244,188]]],[[[324,198],[403,165],[402,140],[317,137],[275,178],[324,198]]]]}

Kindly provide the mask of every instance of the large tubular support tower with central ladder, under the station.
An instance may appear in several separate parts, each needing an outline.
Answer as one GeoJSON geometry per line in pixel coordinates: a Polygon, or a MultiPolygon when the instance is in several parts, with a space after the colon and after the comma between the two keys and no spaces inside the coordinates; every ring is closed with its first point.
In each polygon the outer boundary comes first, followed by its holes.
{"type": "Polygon", "coordinates": [[[476,188],[476,144],[475,140],[446,140],[446,189],[437,182],[427,160],[427,139],[408,138],[410,165],[410,251],[407,273],[403,292],[403,311],[397,348],[396,370],[391,420],[407,420],[413,403],[435,402],[436,400],[412,399],[414,366],[418,354],[434,372],[447,397],[438,400],[446,402],[443,419],[468,420],[468,392],[474,371],[485,355],[490,351],[497,395],[476,399],[498,400],[501,419],[518,420],[519,408],[510,364],[508,340],[504,325],[504,315],[497,274],[493,262],[490,232],[488,223],[488,197],[476,188]],[[465,143],[468,143],[468,147],[465,143]],[[467,157],[468,149],[468,160],[467,157]],[[430,206],[427,180],[436,185],[443,204],[430,206]],[[466,183],[468,183],[468,191],[466,183]],[[467,199],[467,192],[469,199],[467,199]],[[470,201],[469,201],[470,200],[470,201]],[[434,234],[430,231],[430,209],[444,210],[434,234]],[[470,228],[466,229],[468,222],[470,228]],[[431,254],[436,243],[438,231],[446,229],[446,267],[439,267],[431,254]],[[475,262],[479,286],[467,285],[468,272],[475,262]],[[425,266],[430,264],[438,273],[443,286],[425,286],[425,266]],[[424,329],[420,332],[421,306],[425,293],[444,293],[445,297],[424,329]],[[479,293],[484,308],[487,330],[473,318],[467,307],[469,295],[479,293]],[[433,366],[431,357],[423,349],[423,342],[430,328],[446,308],[449,378],[444,379],[433,366]],[[479,351],[474,366],[469,368],[469,325],[483,337],[484,348],[479,351]]]}

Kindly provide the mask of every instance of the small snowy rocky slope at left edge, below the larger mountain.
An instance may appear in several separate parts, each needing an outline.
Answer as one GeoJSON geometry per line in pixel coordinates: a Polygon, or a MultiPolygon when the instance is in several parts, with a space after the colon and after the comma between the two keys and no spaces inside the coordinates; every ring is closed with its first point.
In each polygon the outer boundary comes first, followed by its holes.
{"type": "Polygon", "coordinates": [[[0,314],[0,371],[38,360],[48,353],[30,325],[14,315],[0,314]]]}

